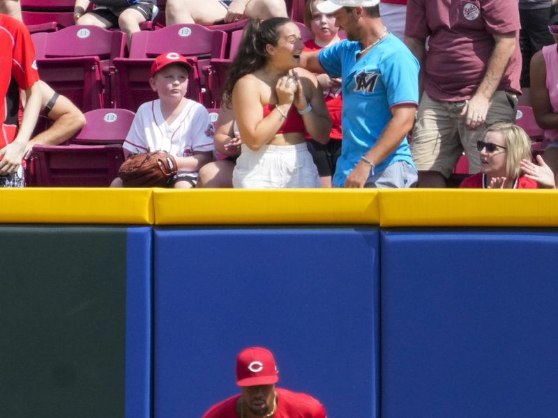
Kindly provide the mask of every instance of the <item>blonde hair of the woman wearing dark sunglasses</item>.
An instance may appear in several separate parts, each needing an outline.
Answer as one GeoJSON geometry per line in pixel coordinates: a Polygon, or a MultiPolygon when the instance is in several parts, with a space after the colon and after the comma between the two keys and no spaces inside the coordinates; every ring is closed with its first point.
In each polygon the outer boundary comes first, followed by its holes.
{"type": "Polygon", "coordinates": [[[506,176],[516,178],[520,175],[521,160],[531,160],[531,139],[522,127],[514,123],[492,123],[486,132],[502,132],[506,140],[506,176]]]}

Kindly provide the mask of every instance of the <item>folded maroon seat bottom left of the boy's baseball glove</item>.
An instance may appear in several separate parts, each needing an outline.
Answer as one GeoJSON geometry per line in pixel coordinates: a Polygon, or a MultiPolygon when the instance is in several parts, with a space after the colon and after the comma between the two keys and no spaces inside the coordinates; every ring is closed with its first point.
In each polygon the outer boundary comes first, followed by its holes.
{"type": "Polygon", "coordinates": [[[36,145],[27,169],[27,186],[107,187],[124,160],[119,145],[36,145]]]}

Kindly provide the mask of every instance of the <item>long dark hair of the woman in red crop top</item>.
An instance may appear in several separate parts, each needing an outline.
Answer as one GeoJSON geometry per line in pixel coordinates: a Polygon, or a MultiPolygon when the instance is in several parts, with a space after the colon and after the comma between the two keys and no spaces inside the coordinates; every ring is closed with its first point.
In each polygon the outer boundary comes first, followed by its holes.
{"type": "Polygon", "coordinates": [[[292,22],[288,17],[271,17],[266,20],[252,20],[244,28],[239,51],[229,66],[227,82],[223,88],[223,101],[231,107],[234,84],[247,74],[263,68],[269,56],[266,45],[277,45],[280,26],[292,22]]]}

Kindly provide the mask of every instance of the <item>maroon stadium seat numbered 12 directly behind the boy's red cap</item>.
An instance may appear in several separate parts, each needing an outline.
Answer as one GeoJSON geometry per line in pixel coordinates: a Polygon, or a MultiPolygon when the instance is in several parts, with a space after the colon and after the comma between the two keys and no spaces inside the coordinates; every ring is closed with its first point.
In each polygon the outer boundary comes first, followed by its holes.
{"type": "Polygon", "coordinates": [[[129,58],[114,60],[114,95],[112,106],[137,111],[140,104],[153,100],[156,93],[149,86],[149,69],[156,56],[178,52],[188,57],[190,72],[187,97],[211,104],[207,76],[212,58],[225,57],[227,34],[197,24],[175,24],[158,31],[134,33],[129,58]]]}

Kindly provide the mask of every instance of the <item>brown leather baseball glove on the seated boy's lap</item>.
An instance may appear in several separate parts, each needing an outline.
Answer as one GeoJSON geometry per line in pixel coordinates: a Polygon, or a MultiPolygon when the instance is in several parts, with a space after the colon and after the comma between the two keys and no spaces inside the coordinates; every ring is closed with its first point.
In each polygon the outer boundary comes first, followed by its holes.
{"type": "Polygon", "coordinates": [[[118,176],[124,187],[165,187],[177,169],[176,159],[169,153],[135,154],[123,162],[118,176]]]}

